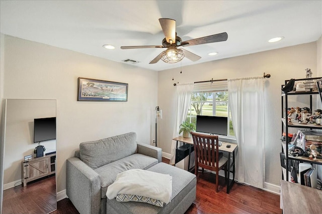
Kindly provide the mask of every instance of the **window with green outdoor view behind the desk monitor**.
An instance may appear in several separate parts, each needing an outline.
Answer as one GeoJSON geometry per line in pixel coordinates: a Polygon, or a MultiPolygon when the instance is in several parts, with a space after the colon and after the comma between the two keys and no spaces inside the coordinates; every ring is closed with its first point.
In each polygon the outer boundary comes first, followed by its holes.
{"type": "Polygon", "coordinates": [[[235,138],[228,103],[227,81],[195,84],[186,121],[196,123],[197,115],[227,117],[227,137],[235,138]]]}

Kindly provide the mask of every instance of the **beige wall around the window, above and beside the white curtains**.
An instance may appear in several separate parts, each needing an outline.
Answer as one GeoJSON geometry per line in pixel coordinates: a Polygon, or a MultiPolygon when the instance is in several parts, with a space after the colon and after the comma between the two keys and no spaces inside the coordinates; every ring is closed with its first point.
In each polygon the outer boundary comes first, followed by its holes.
{"type": "MultiPolygon", "coordinates": [[[[220,54],[220,53],[219,53],[220,54]]],[[[284,80],[305,78],[305,69],[316,72],[316,42],[229,59],[158,72],[158,106],[163,109],[159,121],[158,145],[170,153],[175,120],[174,82],[187,83],[213,79],[254,77],[271,74],[265,80],[265,181],[279,185],[281,179],[281,85],[284,80]],[[172,80],[174,76],[175,80],[172,80]]]]}

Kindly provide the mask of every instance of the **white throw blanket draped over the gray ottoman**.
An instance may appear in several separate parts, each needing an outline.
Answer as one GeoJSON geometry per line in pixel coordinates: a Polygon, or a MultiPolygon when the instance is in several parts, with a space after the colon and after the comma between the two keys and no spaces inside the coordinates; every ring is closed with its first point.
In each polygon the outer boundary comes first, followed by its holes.
{"type": "Polygon", "coordinates": [[[113,199],[117,194],[133,194],[169,203],[172,196],[172,176],[143,169],[130,169],[117,175],[107,187],[106,196],[113,199]]]}

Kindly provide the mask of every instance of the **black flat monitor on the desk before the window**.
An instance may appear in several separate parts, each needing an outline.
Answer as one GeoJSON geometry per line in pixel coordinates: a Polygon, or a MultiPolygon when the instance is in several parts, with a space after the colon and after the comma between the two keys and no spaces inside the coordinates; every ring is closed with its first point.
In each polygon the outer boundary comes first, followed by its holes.
{"type": "Polygon", "coordinates": [[[197,115],[196,131],[227,135],[227,117],[197,115]]]}

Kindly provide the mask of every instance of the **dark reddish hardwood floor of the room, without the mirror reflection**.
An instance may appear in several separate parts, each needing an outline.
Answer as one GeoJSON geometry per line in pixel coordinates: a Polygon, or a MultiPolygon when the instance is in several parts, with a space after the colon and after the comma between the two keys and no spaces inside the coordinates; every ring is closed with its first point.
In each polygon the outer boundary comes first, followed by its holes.
{"type": "MultiPolygon", "coordinates": [[[[162,158],[169,163],[169,159],[162,158]]],[[[234,183],[226,194],[224,178],[219,179],[219,192],[216,192],[215,176],[200,173],[197,180],[197,197],[185,214],[196,213],[282,213],[280,196],[239,183],[234,183]]],[[[68,198],[57,202],[55,214],[78,213],[68,198]]]]}

